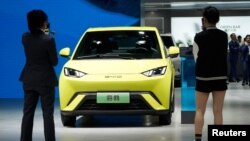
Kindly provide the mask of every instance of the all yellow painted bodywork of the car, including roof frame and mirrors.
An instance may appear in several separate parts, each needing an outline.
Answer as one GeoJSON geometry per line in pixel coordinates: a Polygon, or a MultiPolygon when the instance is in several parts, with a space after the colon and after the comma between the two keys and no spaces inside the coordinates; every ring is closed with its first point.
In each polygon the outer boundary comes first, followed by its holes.
{"type": "MultiPolygon", "coordinates": [[[[155,27],[112,27],[112,28],[89,28],[86,32],[94,31],[128,31],[128,30],[149,30],[155,31],[159,41],[162,53],[161,59],[138,59],[138,60],[121,60],[121,59],[87,59],[73,60],[69,59],[62,68],[59,78],[59,98],[60,109],[63,111],[72,111],[84,99],[84,95],[76,97],[70,104],[69,102],[77,93],[97,92],[97,91],[149,91],[160,101],[158,103],[148,94],[143,94],[144,99],[155,109],[169,109],[171,99],[171,85],[175,73],[171,58],[167,56],[162,39],[155,27]],[[165,66],[164,75],[147,77],[142,73],[154,68],[165,66]],[[86,73],[83,77],[68,77],[64,75],[64,68],[72,68],[86,73]]],[[[85,32],[85,33],[86,33],[85,32]]],[[[76,46],[80,44],[80,41],[76,46]]],[[[74,56],[76,49],[71,56],[74,56]]],[[[173,51],[173,52],[176,52],[173,51]]],[[[70,55],[70,50],[63,49],[62,55],[70,55]]]]}

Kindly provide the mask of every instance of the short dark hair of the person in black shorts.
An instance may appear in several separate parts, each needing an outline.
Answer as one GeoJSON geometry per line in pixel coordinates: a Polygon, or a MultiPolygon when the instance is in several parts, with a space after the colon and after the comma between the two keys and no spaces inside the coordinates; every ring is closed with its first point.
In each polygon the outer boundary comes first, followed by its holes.
{"type": "Polygon", "coordinates": [[[203,11],[203,17],[206,18],[209,23],[216,24],[220,20],[220,12],[217,8],[208,6],[203,11]]]}

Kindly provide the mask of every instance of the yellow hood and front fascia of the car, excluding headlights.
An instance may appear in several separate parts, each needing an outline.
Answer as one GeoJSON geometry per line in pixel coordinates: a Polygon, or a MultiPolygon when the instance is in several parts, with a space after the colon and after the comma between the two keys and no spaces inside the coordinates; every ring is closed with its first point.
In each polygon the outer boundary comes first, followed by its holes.
{"type": "Polygon", "coordinates": [[[80,70],[87,75],[75,78],[61,73],[59,81],[61,109],[67,106],[76,93],[96,91],[151,91],[163,106],[168,108],[171,79],[174,76],[171,75],[174,73],[171,65],[166,59],[70,61],[65,67],[80,70]],[[141,74],[163,65],[167,65],[164,75],[147,77],[141,74]]]}

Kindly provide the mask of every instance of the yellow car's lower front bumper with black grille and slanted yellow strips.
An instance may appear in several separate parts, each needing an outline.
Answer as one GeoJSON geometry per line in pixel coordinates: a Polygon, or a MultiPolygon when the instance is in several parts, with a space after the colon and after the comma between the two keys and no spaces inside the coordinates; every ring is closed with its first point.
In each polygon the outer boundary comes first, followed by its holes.
{"type": "MultiPolygon", "coordinates": [[[[114,92],[112,92],[114,93],[114,92]]],[[[116,92],[119,94],[119,92],[116,92]]],[[[150,92],[129,92],[128,103],[98,103],[97,93],[78,93],[61,113],[67,116],[98,114],[168,114],[169,109],[161,105],[150,92]]]]}

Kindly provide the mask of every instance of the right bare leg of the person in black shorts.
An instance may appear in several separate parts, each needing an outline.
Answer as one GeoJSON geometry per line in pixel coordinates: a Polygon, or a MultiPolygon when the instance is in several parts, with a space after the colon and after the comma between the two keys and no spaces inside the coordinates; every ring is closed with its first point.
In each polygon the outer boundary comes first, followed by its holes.
{"type": "Polygon", "coordinates": [[[223,124],[223,103],[226,91],[213,91],[214,124],[223,124]]]}

